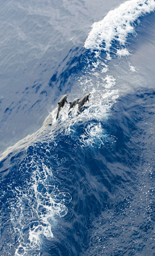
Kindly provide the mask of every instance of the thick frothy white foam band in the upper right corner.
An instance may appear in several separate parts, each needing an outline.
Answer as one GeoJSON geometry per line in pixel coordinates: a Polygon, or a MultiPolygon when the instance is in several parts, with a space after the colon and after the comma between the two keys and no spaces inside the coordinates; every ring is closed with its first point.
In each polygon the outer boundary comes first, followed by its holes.
{"type": "MultiPolygon", "coordinates": [[[[155,10],[154,0],[130,0],[121,4],[118,8],[108,12],[102,21],[95,22],[85,41],[85,48],[92,50],[104,49],[110,52],[112,41],[116,40],[120,45],[125,45],[127,36],[134,32],[133,23],[139,17],[155,10]],[[104,43],[104,47],[100,46],[104,43]]],[[[120,56],[120,50],[116,53],[120,56]]],[[[127,55],[129,52],[126,52],[127,55]]],[[[123,51],[123,56],[125,51],[123,51]]]]}

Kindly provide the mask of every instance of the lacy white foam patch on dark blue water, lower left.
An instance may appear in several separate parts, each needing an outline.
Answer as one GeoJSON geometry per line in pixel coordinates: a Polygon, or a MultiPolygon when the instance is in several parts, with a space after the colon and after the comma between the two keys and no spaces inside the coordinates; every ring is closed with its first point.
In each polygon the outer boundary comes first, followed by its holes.
{"type": "Polygon", "coordinates": [[[52,228],[57,225],[57,216],[67,215],[65,204],[71,200],[68,193],[59,191],[54,185],[57,180],[51,169],[37,163],[33,156],[30,165],[34,171],[27,189],[16,187],[12,191],[16,198],[11,205],[11,222],[18,237],[16,256],[34,252],[40,255],[41,240],[53,238],[52,228]]]}

